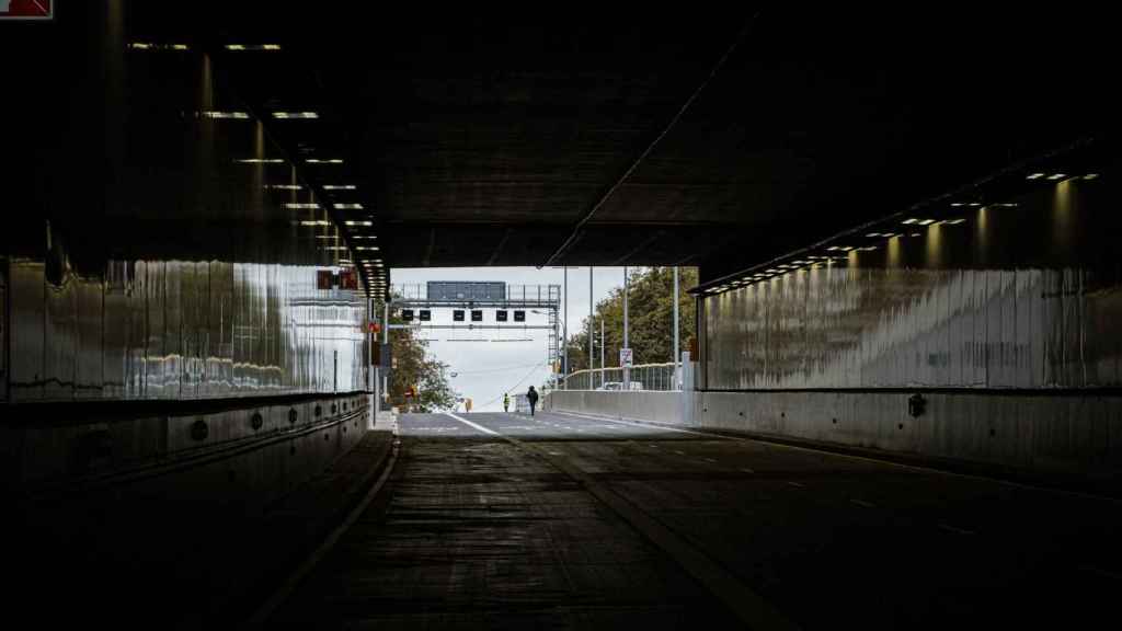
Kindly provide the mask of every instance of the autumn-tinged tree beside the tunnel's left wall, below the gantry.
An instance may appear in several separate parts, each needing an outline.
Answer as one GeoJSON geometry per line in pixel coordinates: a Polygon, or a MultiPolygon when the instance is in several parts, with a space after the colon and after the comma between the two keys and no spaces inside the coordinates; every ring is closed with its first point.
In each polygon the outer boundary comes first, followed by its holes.
{"type": "MultiPolygon", "coordinates": [[[[390,317],[390,322],[397,324],[402,320],[390,317]]],[[[448,364],[429,358],[429,342],[417,339],[413,329],[394,329],[389,345],[395,360],[389,377],[392,402],[407,404],[415,412],[456,409],[459,393],[448,383],[448,364]],[[405,396],[411,386],[416,387],[416,397],[405,396]]]]}

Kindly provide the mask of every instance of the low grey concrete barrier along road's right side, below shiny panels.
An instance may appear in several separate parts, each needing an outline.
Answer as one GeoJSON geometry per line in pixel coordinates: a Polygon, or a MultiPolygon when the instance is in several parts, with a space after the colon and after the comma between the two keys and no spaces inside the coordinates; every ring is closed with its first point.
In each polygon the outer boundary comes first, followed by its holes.
{"type": "Polygon", "coordinates": [[[1122,474],[1122,396],[1091,393],[557,391],[550,410],[1110,481],[1122,474]]]}

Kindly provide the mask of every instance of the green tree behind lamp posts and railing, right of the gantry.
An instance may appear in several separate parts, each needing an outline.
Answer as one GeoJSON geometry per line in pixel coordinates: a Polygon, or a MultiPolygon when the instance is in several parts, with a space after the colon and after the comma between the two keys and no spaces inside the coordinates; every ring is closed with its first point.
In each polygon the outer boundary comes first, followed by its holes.
{"type": "MultiPolygon", "coordinates": [[[[678,335],[681,349],[689,349],[696,328],[693,296],[686,290],[698,284],[697,267],[679,268],[678,335]]],[[[673,298],[674,271],[672,267],[636,268],[628,273],[627,316],[628,344],[635,364],[673,362],[673,298]]],[[[619,365],[619,348],[624,341],[624,291],[613,290],[608,298],[596,304],[594,314],[594,342],[596,366],[600,363],[600,321],[604,321],[605,359],[608,367],[619,365]]],[[[569,372],[588,368],[588,318],[580,331],[570,336],[569,372]]]]}

